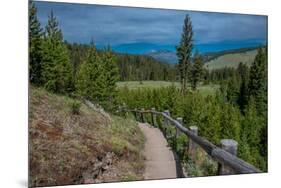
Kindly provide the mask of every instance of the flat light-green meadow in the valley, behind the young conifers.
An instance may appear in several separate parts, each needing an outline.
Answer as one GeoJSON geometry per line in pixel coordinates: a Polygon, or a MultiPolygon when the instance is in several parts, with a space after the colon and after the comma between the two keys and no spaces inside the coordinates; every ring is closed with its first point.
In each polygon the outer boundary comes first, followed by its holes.
{"type": "MultiPolygon", "coordinates": [[[[126,81],[126,82],[118,82],[117,87],[122,89],[127,87],[128,89],[143,89],[143,88],[161,88],[161,87],[168,87],[175,85],[177,88],[180,88],[179,82],[169,82],[169,81],[126,81]]],[[[198,87],[198,91],[204,95],[212,95],[214,94],[219,88],[219,85],[200,85],[198,87]]],[[[190,88],[189,88],[190,89],[190,88]]]]}

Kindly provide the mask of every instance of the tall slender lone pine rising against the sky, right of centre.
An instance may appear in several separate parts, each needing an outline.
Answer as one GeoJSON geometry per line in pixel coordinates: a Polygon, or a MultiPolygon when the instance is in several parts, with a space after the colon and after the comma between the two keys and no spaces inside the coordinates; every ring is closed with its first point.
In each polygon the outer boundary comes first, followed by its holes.
{"type": "Polygon", "coordinates": [[[177,56],[178,56],[178,67],[180,73],[180,81],[182,85],[182,92],[186,92],[188,74],[190,71],[190,61],[193,49],[193,31],[191,19],[186,15],[184,19],[183,32],[181,35],[181,41],[179,46],[177,46],[177,56]]]}

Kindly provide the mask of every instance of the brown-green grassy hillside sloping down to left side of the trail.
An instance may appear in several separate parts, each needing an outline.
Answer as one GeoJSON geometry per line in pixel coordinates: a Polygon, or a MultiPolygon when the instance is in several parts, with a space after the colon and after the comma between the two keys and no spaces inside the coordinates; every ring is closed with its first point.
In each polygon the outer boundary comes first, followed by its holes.
{"type": "Polygon", "coordinates": [[[30,88],[30,186],[142,179],[144,136],[130,118],[30,88]]]}

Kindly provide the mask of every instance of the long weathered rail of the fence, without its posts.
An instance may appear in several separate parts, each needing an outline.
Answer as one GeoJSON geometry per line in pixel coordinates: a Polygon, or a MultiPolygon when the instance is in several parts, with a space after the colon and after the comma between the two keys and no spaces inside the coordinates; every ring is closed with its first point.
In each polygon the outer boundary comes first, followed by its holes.
{"type": "MultiPolygon", "coordinates": [[[[246,161],[238,158],[237,156],[231,154],[230,152],[216,146],[207,139],[198,136],[192,130],[184,127],[179,121],[173,119],[165,112],[158,112],[156,110],[127,110],[125,111],[140,113],[142,120],[143,114],[151,113],[156,115],[161,115],[166,120],[168,120],[173,126],[175,126],[179,131],[186,134],[193,142],[198,144],[208,155],[215,159],[219,164],[223,164],[231,168],[235,173],[248,174],[248,173],[260,173],[261,171],[254,167],[253,165],[247,163],[246,161]]],[[[223,173],[222,173],[223,174],[223,173]]]]}

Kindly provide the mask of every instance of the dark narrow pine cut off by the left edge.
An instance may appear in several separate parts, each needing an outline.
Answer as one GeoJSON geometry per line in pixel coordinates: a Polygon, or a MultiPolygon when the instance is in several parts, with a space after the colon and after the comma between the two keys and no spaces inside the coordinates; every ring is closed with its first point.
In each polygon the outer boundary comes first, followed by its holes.
{"type": "Polygon", "coordinates": [[[37,9],[34,2],[30,2],[29,6],[29,79],[31,83],[40,85],[43,32],[36,15],[37,9]]]}

